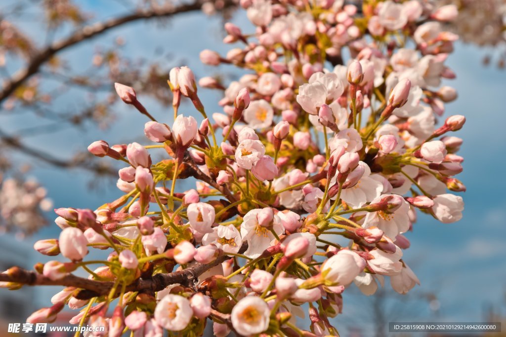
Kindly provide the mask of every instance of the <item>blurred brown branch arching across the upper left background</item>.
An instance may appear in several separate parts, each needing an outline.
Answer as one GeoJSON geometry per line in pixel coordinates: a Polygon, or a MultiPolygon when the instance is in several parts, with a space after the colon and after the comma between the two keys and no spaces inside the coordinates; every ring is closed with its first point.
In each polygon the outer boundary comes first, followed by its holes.
{"type": "MultiPolygon", "coordinates": [[[[165,6],[162,8],[151,8],[147,10],[139,10],[136,13],[113,18],[105,22],[98,22],[92,25],[82,27],[80,30],[74,32],[72,35],[56,41],[51,45],[45,47],[43,50],[37,52],[30,58],[30,61],[25,68],[18,70],[8,80],[0,91],[0,103],[6,100],[18,87],[20,87],[30,76],[37,73],[41,66],[51,60],[51,58],[81,41],[93,38],[100,35],[112,28],[119,27],[129,22],[152,19],[171,17],[181,13],[188,13],[192,11],[199,11],[202,7],[203,2],[200,0],[195,1],[192,4],[180,5],[177,7],[165,6]]],[[[224,7],[227,8],[233,6],[234,3],[231,0],[226,0],[224,7]]]]}

